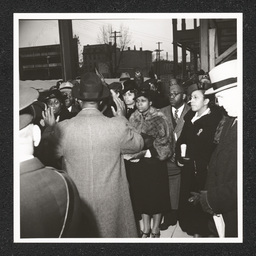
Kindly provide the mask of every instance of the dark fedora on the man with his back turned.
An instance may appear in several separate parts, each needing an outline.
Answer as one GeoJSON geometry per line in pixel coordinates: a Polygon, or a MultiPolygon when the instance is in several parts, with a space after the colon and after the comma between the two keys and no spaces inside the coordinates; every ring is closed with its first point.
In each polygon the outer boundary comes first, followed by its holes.
{"type": "Polygon", "coordinates": [[[107,98],[110,91],[95,73],[88,72],[81,76],[80,85],[74,85],[72,94],[74,98],[80,100],[98,101],[107,98]]]}

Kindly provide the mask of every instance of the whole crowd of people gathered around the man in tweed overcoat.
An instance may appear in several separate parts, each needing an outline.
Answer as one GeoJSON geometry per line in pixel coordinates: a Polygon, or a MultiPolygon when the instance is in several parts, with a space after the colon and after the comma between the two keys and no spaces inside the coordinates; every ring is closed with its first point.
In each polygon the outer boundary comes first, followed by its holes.
{"type": "Polygon", "coordinates": [[[237,237],[236,60],[161,86],[137,70],[20,88],[21,238],[237,237]]]}

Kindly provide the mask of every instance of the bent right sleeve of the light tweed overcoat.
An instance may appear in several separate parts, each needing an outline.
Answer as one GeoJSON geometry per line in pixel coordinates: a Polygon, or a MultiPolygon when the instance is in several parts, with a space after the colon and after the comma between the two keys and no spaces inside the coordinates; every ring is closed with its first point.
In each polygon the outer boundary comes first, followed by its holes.
{"type": "Polygon", "coordinates": [[[138,153],[143,149],[144,142],[142,136],[135,131],[130,123],[122,118],[118,126],[121,131],[121,153],[133,154],[138,153]]]}

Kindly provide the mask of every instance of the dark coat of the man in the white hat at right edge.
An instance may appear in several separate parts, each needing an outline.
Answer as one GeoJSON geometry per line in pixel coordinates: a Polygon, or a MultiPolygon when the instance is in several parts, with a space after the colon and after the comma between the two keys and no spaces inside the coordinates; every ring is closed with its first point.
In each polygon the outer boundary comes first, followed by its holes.
{"type": "Polygon", "coordinates": [[[225,236],[237,236],[237,123],[226,117],[220,141],[209,163],[208,201],[225,222],[225,236]]]}

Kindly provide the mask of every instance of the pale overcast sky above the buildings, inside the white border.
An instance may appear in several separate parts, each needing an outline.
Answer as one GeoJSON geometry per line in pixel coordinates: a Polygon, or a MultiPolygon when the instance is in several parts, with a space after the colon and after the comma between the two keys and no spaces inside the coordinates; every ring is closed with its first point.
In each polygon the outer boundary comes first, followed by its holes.
{"type": "MultiPolygon", "coordinates": [[[[180,28],[181,20],[178,20],[180,28]]],[[[193,20],[187,19],[187,28],[193,27],[193,20]]],[[[98,44],[97,37],[103,25],[111,24],[115,31],[119,31],[120,25],[129,28],[131,38],[131,49],[153,51],[158,49],[157,42],[161,42],[161,57],[173,59],[173,36],[172,19],[73,19],[73,35],[80,39],[81,54],[82,46],[87,44],[98,44]]],[[[19,47],[40,46],[48,44],[59,44],[58,21],[51,19],[44,20],[20,20],[19,21],[19,47]]],[[[181,57],[181,56],[179,56],[181,57]]]]}

